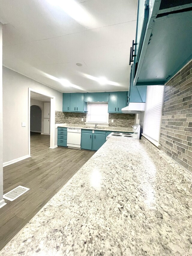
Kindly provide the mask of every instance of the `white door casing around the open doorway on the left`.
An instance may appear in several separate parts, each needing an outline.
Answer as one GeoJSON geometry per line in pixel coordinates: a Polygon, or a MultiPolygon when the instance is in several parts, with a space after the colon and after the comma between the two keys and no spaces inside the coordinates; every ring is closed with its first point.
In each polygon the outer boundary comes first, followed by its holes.
{"type": "Polygon", "coordinates": [[[31,101],[31,92],[36,92],[41,95],[44,95],[51,99],[50,101],[50,148],[54,147],[55,144],[55,96],[45,94],[42,91],[37,91],[32,88],[29,88],[28,91],[28,154],[30,155],[30,101],[31,101]]]}

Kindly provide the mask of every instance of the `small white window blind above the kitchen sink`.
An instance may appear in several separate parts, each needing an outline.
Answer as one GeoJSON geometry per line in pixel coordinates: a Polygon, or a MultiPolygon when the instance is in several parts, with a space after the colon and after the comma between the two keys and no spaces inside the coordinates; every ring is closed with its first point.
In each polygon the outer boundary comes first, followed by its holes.
{"type": "Polygon", "coordinates": [[[87,106],[87,110],[86,122],[108,123],[108,104],[90,103],[87,106]]]}

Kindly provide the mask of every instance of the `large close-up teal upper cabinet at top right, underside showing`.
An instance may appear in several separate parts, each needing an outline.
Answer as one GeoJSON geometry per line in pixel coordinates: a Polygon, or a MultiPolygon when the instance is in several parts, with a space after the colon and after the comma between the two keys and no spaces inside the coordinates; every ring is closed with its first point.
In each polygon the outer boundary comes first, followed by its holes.
{"type": "Polygon", "coordinates": [[[164,85],[190,61],[191,8],[191,0],[139,0],[134,86],[164,85]]]}

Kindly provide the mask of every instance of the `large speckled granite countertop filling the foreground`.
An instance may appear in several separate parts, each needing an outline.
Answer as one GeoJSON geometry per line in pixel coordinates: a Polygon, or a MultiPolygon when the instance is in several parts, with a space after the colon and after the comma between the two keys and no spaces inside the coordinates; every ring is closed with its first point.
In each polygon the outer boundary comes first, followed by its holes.
{"type": "Polygon", "coordinates": [[[110,138],[0,255],[192,255],[192,194],[140,140],[110,138]]]}

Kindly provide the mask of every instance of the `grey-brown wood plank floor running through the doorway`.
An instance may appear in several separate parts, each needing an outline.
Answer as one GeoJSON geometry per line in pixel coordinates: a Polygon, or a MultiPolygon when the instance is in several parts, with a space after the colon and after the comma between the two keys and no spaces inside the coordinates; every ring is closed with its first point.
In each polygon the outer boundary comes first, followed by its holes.
{"type": "Polygon", "coordinates": [[[4,193],[18,185],[30,190],[0,209],[0,250],[94,154],[49,149],[49,141],[49,135],[32,134],[32,157],[3,168],[4,193]]]}

